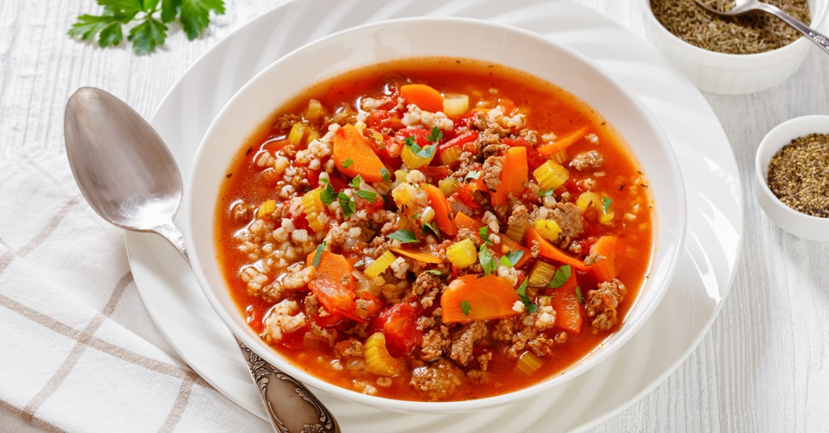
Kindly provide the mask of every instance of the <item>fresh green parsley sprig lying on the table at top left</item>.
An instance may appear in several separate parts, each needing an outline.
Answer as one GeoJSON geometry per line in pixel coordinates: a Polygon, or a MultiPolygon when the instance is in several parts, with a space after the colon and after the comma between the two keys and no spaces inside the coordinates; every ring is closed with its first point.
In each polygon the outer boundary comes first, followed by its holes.
{"type": "Polygon", "coordinates": [[[101,48],[118,46],[127,39],[137,55],[150,54],[167,40],[167,24],[178,20],[190,41],[201,36],[210,25],[210,14],[225,13],[223,0],[97,0],[104,11],[84,14],[72,24],[68,34],[83,41],[95,41],[101,48]]]}

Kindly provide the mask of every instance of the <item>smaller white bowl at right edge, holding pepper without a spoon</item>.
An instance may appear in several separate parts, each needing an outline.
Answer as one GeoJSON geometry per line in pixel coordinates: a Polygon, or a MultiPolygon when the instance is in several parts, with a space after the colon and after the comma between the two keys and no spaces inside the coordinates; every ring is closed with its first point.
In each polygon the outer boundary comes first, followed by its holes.
{"type": "Polygon", "coordinates": [[[783,204],[768,189],[768,161],[797,137],[829,134],[829,116],[813,115],[793,118],[773,127],[766,134],[754,157],[754,195],[774,224],[795,236],[813,241],[829,241],[829,218],[802,214],[783,204]]]}

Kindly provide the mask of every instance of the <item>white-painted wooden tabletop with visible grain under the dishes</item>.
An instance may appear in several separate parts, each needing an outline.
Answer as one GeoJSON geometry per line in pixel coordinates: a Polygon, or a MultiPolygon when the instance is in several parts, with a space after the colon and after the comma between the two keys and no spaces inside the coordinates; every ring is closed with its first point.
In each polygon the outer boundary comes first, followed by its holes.
{"type": "MultiPolygon", "coordinates": [[[[642,34],[638,1],[576,1],[642,34]]],[[[128,47],[100,50],[65,36],[80,13],[98,10],[93,0],[0,2],[0,159],[19,148],[63,152],[65,101],[83,85],[118,94],[149,117],[201,54],[279,3],[225,0],[227,13],[206,36],[190,42],[172,31],[160,52],[137,57],[128,47]]],[[[690,357],[594,431],[829,431],[829,243],[774,226],[750,182],[754,151],[771,127],[829,114],[827,83],[829,56],[814,49],[796,75],[773,89],[705,94],[744,181],[744,250],[734,285],[690,357]]],[[[0,431],[38,430],[0,411],[0,431]]]]}

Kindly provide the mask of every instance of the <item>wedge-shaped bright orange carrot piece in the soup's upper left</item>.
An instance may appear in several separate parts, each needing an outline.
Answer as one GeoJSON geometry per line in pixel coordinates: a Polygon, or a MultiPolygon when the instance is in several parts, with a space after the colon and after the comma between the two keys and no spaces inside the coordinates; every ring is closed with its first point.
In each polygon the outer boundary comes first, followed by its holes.
{"type": "Polygon", "coordinates": [[[385,168],[383,161],[371,150],[366,138],[360,131],[357,131],[354,125],[348,123],[337,129],[337,132],[334,132],[333,142],[332,159],[337,170],[351,177],[360,175],[367,182],[383,180],[381,171],[385,168]],[[351,160],[351,165],[343,166],[346,160],[351,160]]]}

